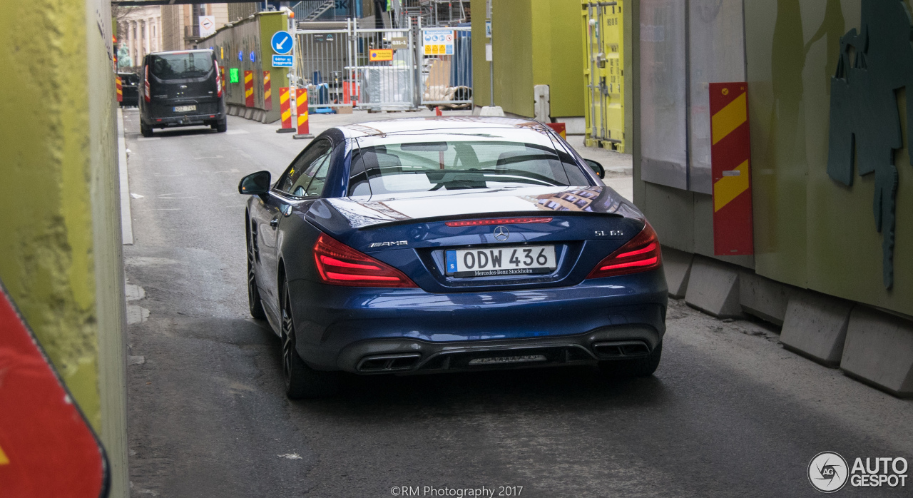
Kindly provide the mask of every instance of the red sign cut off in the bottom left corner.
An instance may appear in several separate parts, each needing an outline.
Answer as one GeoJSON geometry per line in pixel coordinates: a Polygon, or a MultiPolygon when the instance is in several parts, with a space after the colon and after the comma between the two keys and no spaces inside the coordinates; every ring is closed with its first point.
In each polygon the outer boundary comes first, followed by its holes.
{"type": "Polygon", "coordinates": [[[104,450],[2,284],[0,495],[108,496],[104,450]]]}

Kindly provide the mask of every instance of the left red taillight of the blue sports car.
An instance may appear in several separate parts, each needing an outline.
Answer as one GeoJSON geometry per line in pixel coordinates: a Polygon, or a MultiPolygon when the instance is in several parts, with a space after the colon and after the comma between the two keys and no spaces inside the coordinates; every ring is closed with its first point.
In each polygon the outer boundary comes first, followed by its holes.
{"type": "Polygon", "coordinates": [[[320,279],[331,285],[351,287],[418,287],[394,267],[346,246],[327,234],[314,244],[320,279]]]}

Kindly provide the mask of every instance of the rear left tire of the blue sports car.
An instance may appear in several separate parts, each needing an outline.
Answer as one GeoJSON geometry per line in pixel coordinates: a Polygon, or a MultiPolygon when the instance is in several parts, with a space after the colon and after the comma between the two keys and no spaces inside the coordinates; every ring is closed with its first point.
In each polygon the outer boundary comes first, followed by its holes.
{"type": "Polygon", "coordinates": [[[331,396],[339,390],[339,373],[314,370],[298,354],[288,281],[282,284],[281,301],[282,374],[285,377],[286,396],[289,399],[331,396]]]}

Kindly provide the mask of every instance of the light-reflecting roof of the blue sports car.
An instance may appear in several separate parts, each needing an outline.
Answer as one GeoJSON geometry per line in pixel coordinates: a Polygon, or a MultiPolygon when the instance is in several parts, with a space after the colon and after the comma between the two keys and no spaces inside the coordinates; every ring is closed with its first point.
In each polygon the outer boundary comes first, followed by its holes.
{"type": "Polygon", "coordinates": [[[545,130],[547,127],[527,118],[497,118],[483,116],[434,116],[426,118],[398,118],[393,120],[359,122],[336,127],[346,138],[376,136],[398,132],[435,132],[456,128],[495,128],[545,130]]]}

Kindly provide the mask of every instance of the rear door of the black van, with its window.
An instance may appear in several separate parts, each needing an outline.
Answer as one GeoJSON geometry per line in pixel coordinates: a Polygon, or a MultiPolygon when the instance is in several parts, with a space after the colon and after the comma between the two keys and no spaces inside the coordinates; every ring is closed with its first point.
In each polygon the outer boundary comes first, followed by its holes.
{"type": "Polygon", "coordinates": [[[164,118],[218,112],[215,69],[215,56],[209,50],[152,54],[152,115],[164,118]]]}

